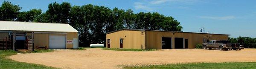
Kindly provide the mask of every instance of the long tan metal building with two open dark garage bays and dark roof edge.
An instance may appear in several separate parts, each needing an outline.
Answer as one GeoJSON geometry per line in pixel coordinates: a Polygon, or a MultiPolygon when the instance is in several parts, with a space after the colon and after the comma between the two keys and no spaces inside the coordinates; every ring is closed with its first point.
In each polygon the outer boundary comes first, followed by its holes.
{"type": "Polygon", "coordinates": [[[107,48],[192,49],[209,40],[228,40],[229,35],[144,29],[119,29],[106,35],[107,48]]]}

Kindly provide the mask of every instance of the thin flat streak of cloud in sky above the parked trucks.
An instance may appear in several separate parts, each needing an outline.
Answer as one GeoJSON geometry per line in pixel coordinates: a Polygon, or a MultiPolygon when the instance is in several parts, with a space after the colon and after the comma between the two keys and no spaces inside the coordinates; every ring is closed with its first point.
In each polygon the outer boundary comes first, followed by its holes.
{"type": "Polygon", "coordinates": [[[209,16],[199,16],[199,18],[203,19],[213,19],[213,20],[231,20],[235,19],[235,16],[224,16],[224,17],[209,17],[209,16]]]}

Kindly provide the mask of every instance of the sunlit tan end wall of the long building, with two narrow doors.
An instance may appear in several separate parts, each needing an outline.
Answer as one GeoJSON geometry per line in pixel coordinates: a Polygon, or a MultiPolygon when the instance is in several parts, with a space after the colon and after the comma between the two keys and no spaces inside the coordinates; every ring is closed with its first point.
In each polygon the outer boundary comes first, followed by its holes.
{"type": "Polygon", "coordinates": [[[120,48],[120,38],[123,38],[123,49],[145,49],[145,31],[121,30],[106,35],[106,41],[110,39],[110,48],[120,48]]]}

